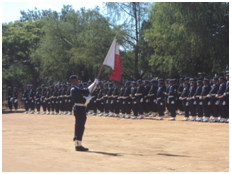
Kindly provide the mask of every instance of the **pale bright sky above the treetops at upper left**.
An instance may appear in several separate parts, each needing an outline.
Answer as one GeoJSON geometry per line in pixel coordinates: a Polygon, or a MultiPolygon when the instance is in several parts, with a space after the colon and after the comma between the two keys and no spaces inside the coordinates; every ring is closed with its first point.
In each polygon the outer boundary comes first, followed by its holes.
{"type": "MultiPolygon", "coordinates": [[[[15,0],[16,1],[16,0],[15,0]]],[[[30,2],[2,2],[2,23],[9,23],[15,20],[20,20],[20,10],[33,10],[34,7],[37,7],[38,10],[51,10],[60,12],[63,5],[72,5],[72,8],[75,10],[79,10],[81,7],[94,8],[95,6],[99,6],[100,9],[103,8],[102,1],[73,1],[73,2],[65,2],[65,1],[56,1],[56,2],[47,2],[43,0],[39,1],[30,1],[30,2]]]]}

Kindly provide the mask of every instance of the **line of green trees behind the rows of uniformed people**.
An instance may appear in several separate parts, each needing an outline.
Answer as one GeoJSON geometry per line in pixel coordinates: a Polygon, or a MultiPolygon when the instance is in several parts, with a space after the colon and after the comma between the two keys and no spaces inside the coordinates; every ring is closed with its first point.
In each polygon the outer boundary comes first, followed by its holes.
{"type": "MultiPolygon", "coordinates": [[[[94,80],[116,33],[123,76],[213,77],[229,69],[229,3],[107,2],[21,11],[2,24],[2,85],[94,80]]],[[[108,79],[104,68],[101,79],[108,79]]]]}

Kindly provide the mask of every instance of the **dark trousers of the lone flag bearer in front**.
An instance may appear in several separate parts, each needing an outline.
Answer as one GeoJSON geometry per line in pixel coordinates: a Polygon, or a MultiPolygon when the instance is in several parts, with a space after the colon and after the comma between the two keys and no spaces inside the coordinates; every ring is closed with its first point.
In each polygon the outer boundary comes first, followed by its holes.
{"type": "Polygon", "coordinates": [[[74,140],[82,141],[85,123],[86,123],[86,111],[85,107],[75,106],[74,108],[74,115],[75,115],[75,135],[74,140]]]}

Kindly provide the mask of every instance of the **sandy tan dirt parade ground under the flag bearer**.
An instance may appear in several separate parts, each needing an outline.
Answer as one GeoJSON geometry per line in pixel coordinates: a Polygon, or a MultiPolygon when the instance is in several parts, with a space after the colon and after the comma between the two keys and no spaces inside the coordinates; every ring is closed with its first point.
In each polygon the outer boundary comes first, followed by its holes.
{"type": "Polygon", "coordinates": [[[228,172],[229,124],[88,116],[83,146],[74,116],[2,114],[3,172],[228,172]]]}

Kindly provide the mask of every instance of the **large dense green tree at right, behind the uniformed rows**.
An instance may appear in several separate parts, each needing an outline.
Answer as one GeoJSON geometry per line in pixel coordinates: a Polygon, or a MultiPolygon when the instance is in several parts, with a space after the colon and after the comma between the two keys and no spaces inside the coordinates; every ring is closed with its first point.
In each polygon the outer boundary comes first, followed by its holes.
{"type": "Polygon", "coordinates": [[[145,31],[150,64],[170,77],[213,76],[228,65],[228,3],[156,3],[145,31]]]}

